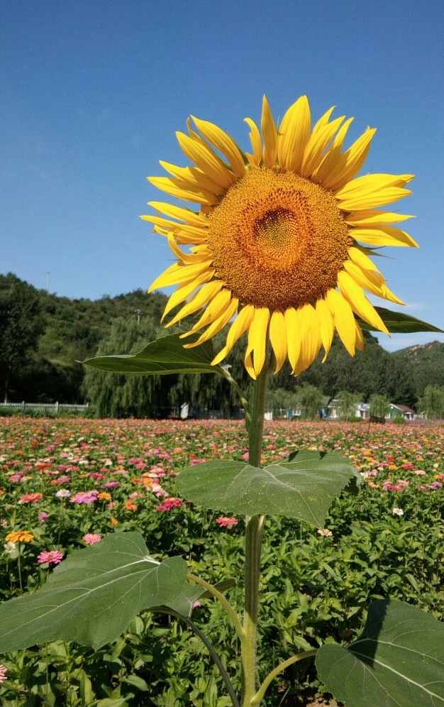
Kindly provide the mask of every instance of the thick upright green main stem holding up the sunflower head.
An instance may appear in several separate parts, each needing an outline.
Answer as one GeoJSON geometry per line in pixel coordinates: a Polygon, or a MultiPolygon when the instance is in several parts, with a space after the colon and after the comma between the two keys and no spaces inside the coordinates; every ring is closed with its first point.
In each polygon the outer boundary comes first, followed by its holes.
{"type": "MultiPolygon", "coordinates": [[[[249,429],[249,462],[260,466],[264,428],[265,395],[270,370],[267,364],[255,382],[249,429]]],[[[257,609],[259,605],[260,549],[264,516],[247,517],[245,535],[245,613],[241,642],[242,707],[250,707],[256,694],[257,609]]]]}

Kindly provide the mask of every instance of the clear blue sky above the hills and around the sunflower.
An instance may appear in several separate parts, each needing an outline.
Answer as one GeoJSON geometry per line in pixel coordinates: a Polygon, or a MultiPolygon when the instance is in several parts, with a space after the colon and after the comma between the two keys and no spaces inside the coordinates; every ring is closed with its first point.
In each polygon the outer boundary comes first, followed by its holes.
{"type": "Polygon", "coordinates": [[[394,208],[421,248],[381,269],[444,329],[442,0],[3,0],[0,33],[0,273],[67,297],[145,289],[171,259],[138,219],[168,200],[145,177],[187,164],[187,116],[248,149],[262,94],[277,119],[306,93],[314,119],[355,116],[350,141],[377,127],[365,172],[416,174],[394,208]]]}

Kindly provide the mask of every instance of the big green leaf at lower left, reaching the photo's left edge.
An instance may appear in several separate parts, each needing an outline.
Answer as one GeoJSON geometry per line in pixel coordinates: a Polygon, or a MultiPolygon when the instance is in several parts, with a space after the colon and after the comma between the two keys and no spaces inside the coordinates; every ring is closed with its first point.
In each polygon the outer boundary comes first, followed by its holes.
{"type": "Polygon", "coordinates": [[[0,652],[52,640],[98,648],[140,611],[165,605],[189,615],[202,593],[180,557],[153,560],[138,532],[116,532],[75,550],[35,593],[0,604],[0,652]]]}

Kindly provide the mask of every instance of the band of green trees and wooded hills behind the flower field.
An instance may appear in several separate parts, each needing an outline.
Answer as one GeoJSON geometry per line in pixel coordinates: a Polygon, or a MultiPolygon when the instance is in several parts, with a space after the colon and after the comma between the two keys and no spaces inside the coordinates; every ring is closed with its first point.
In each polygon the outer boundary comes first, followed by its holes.
{"type": "MultiPolygon", "coordinates": [[[[0,385],[1,395],[27,402],[96,403],[100,415],[165,415],[189,402],[196,410],[233,414],[238,401],[222,380],[209,376],[174,377],[170,382],[123,383],[98,393],[99,383],[87,379],[79,363],[96,354],[128,354],[165,333],[160,318],[166,297],[136,290],[100,300],[70,300],[35,290],[15,275],[0,275],[0,385]],[[124,390],[123,390],[124,388],[124,390]],[[145,396],[148,395],[148,398],[145,396]]],[[[301,385],[318,388],[332,397],[341,390],[360,393],[362,400],[385,395],[391,402],[414,406],[427,385],[444,385],[444,344],[416,346],[389,354],[370,334],[366,345],[351,358],[335,339],[326,361],[320,354],[308,371],[294,378],[286,365],[272,378],[272,407],[297,405],[301,385]],[[295,398],[296,395],[296,398],[295,398]]],[[[215,348],[222,346],[219,335],[215,348]]],[[[249,380],[242,365],[243,346],[231,352],[228,363],[243,388],[249,380]]],[[[114,380],[116,380],[114,378],[114,380]]]]}

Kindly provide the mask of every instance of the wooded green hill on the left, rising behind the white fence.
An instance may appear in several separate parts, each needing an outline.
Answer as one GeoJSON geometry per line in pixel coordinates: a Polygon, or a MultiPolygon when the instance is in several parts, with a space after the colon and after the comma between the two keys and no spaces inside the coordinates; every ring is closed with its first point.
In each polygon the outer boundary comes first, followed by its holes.
{"type": "MultiPolygon", "coordinates": [[[[13,275],[0,275],[0,307],[3,319],[8,317],[11,292],[20,290],[34,305],[34,317],[40,322],[40,333],[30,346],[25,361],[16,371],[7,374],[0,361],[0,395],[3,395],[4,378],[8,378],[8,397],[11,401],[28,402],[83,402],[82,381],[84,361],[96,354],[100,342],[109,336],[111,325],[119,317],[124,319],[153,319],[160,322],[167,297],[158,293],[147,295],[143,290],[100,300],[70,299],[37,290],[13,275]],[[38,307],[35,305],[37,302],[38,307]],[[38,312],[36,311],[38,309],[38,312]]],[[[23,316],[23,319],[26,317],[23,316]]],[[[15,317],[1,323],[0,333],[5,339],[13,332],[20,339],[17,329],[21,323],[15,317]]],[[[11,344],[12,346],[12,344],[11,344]]],[[[23,358],[23,357],[22,357],[23,358]]]]}

